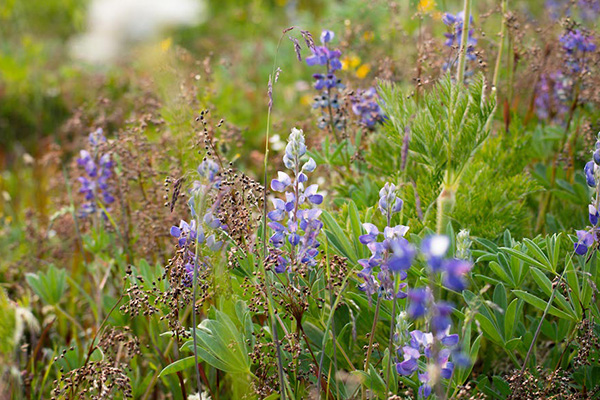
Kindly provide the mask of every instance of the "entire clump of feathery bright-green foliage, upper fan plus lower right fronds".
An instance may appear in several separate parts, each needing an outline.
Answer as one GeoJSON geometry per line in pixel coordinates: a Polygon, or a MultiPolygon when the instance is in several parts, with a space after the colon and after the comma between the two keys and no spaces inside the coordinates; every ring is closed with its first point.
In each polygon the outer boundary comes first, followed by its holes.
{"type": "Polygon", "coordinates": [[[483,76],[468,86],[446,76],[418,100],[398,85],[380,84],[388,116],[385,136],[373,139],[367,160],[381,176],[400,183],[405,215],[418,232],[436,224],[436,201],[452,193],[450,220],[477,236],[497,237],[505,229],[516,237],[529,233],[526,205],[540,189],[527,172],[531,135],[518,121],[510,132],[490,134],[495,102],[486,95],[483,76]],[[409,135],[407,161],[402,148],[409,135]]]}

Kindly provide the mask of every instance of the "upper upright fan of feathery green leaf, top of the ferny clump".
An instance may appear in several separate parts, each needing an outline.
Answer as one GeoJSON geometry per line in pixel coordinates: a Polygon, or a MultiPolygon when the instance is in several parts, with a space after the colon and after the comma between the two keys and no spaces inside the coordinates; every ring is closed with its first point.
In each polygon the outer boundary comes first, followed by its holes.
{"type": "Polygon", "coordinates": [[[483,76],[465,88],[446,75],[419,103],[396,85],[382,82],[380,89],[390,139],[400,145],[408,133],[414,162],[433,175],[444,171],[459,179],[489,134],[495,102],[486,96],[483,76]]]}

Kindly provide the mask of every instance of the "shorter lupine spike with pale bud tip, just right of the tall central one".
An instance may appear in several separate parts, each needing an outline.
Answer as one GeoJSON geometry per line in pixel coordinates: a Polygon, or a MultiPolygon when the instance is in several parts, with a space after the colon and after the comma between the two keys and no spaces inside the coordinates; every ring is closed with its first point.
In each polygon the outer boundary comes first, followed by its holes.
{"type": "Polygon", "coordinates": [[[361,235],[359,240],[371,250],[371,257],[358,260],[363,267],[358,277],[364,280],[359,289],[367,294],[369,300],[374,294],[387,300],[406,297],[406,283],[400,283],[396,289],[394,275],[398,274],[401,281],[406,279],[415,249],[404,238],[408,226],[391,226],[392,216],[402,210],[402,204],[402,200],[396,196],[396,186],[386,183],[379,191],[379,210],[384,215],[387,225],[383,232],[380,232],[374,224],[363,224],[367,233],[361,235]],[[382,234],[383,241],[379,242],[379,236],[382,234]],[[376,276],[375,268],[379,269],[376,276]]]}

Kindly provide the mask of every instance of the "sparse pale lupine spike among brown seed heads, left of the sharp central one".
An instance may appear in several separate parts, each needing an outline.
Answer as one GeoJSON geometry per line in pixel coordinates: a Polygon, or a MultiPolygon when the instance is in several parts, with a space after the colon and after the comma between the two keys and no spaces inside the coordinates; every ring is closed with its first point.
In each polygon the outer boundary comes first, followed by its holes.
{"type": "MultiPolygon", "coordinates": [[[[209,207],[202,217],[196,214],[196,199],[204,202],[209,198],[211,191],[219,188],[221,180],[218,175],[218,164],[213,160],[205,159],[200,163],[197,171],[201,180],[194,181],[191,189],[192,196],[190,197],[189,206],[192,219],[189,223],[181,220],[179,226],[172,226],[170,229],[171,236],[178,239],[177,244],[183,249],[183,262],[186,270],[183,283],[186,286],[192,285],[194,265],[198,267],[200,264],[206,264],[206,262],[197,260],[196,246],[204,244],[209,250],[218,251],[223,246],[223,242],[217,239],[214,231],[226,228],[215,215],[219,206],[218,203],[209,207]],[[200,223],[197,221],[200,221],[200,223]]],[[[206,257],[204,258],[206,259],[206,257]]]]}

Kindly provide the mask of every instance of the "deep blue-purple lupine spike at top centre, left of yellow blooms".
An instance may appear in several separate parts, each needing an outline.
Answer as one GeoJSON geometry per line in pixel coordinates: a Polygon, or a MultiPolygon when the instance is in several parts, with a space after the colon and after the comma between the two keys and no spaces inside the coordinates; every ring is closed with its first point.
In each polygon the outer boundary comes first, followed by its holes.
{"type": "Polygon", "coordinates": [[[340,102],[337,91],[344,89],[342,80],[335,72],[342,68],[339,50],[329,48],[329,43],[333,40],[335,34],[332,31],[324,30],[321,33],[321,46],[312,46],[312,55],[306,58],[306,64],[309,66],[324,66],[325,73],[314,74],[314,87],[320,94],[315,97],[313,108],[321,110],[319,119],[319,128],[325,129],[330,126],[336,131],[342,131],[345,126],[345,119],[339,112],[340,102]],[[335,114],[335,115],[334,115],[335,114]]]}

